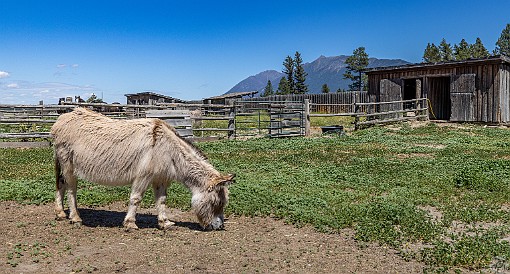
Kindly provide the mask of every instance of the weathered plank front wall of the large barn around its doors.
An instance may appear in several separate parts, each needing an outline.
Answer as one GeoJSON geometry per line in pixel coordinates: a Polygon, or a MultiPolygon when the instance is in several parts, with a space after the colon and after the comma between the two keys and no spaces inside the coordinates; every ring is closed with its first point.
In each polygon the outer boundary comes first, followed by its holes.
{"type": "MultiPolygon", "coordinates": [[[[509,66],[510,64],[497,59],[492,60],[492,62],[449,63],[433,67],[423,66],[372,71],[368,73],[368,93],[371,98],[380,101],[381,80],[420,78],[423,81],[422,96],[428,98],[430,90],[428,79],[432,77],[451,77],[453,79],[453,76],[456,75],[475,74],[475,92],[469,98],[472,103],[472,106],[469,107],[473,112],[470,120],[495,123],[510,122],[509,66]]],[[[456,117],[466,115],[464,110],[452,108],[451,111],[452,115],[456,115],[456,117]],[[458,111],[463,113],[456,113],[458,111]]]]}

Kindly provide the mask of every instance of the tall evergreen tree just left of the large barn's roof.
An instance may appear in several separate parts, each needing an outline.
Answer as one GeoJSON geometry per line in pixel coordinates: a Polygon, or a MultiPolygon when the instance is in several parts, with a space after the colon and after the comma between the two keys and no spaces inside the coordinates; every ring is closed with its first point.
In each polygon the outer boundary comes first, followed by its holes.
{"type": "Polygon", "coordinates": [[[363,70],[368,66],[368,54],[365,47],[359,47],[352,52],[352,55],[345,60],[347,72],[344,73],[344,79],[352,81],[349,84],[349,90],[358,91],[367,88],[366,77],[363,77],[363,70]]]}

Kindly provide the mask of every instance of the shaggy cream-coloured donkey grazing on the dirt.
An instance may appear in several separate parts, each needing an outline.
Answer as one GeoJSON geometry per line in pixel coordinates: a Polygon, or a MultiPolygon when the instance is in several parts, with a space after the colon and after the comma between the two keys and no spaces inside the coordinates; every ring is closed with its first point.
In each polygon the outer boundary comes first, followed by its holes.
{"type": "Polygon", "coordinates": [[[138,228],[136,210],[149,185],[154,190],[158,226],[174,223],[166,215],[167,188],[171,181],[192,193],[191,204],[205,230],[224,228],[223,210],[228,203],[231,174],[220,174],[205,155],[159,119],[113,120],[85,108],[62,114],[51,127],[54,138],[57,190],[55,214],[81,224],[76,208],[77,178],[108,186],[131,184],[129,207],[123,225],[138,228]]]}

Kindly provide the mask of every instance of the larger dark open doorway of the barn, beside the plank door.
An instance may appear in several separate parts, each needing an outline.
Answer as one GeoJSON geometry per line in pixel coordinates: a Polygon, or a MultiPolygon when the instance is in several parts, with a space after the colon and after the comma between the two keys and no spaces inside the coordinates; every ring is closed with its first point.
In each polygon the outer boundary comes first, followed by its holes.
{"type": "Polygon", "coordinates": [[[430,119],[449,120],[451,115],[450,77],[431,77],[427,98],[430,100],[432,111],[430,119]]]}

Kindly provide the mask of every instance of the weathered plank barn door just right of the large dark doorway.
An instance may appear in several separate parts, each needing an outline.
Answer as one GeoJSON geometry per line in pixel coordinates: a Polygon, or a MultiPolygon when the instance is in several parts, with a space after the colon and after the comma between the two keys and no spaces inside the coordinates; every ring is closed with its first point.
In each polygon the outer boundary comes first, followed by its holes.
{"type": "Polygon", "coordinates": [[[450,90],[450,121],[475,121],[475,74],[453,75],[450,90]]]}

